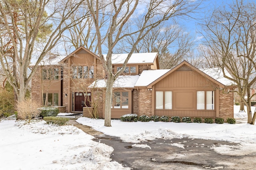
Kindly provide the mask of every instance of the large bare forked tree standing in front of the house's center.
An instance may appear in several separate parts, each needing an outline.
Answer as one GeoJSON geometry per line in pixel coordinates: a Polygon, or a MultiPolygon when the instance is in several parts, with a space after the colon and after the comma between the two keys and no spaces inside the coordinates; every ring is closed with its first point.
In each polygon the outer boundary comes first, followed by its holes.
{"type": "MultiPolygon", "coordinates": [[[[114,80],[124,71],[128,60],[132,53],[134,53],[138,43],[150,31],[157,27],[160,23],[166,20],[182,17],[192,12],[199,4],[198,1],[186,0],[114,0],[114,1],[99,1],[86,0],[88,10],[92,15],[94,27],[96,30],[98,40],[98,54],[102,61],[104,71],[107,76],[106,83],[106,101],[105,101],[105,121],[104,125],[111,126],[111,96],[114,80]],[[104,3],[104,13],[102,12],[102,3],[104,3]],[[139,9],[140,8],[140,9],[139,9]],[[143,11],[143,12],[142,12],[143,11]],[[106,22],[105,29],[100,29],[99,21],[104,15],[109,15],[109,20],[106,22]],[[137,26],[134,21],[142,16],[141,24],[137,26]],[[108,28],[106,29],[106,27],[108,28]],[[107,30],[107,31],[106,31],[107,30]],[[131,31],[128,31],[131,30],[131,31]],[[104,44],[102,44],[102,35],[107,35],[107,55],[104,58],[102,51],[104,44]],[[116,45],[125,37],[133,37],[134,44],[130,48],[127,58],[124,61],[122,69],[118,72],[112,72],[112,51],[115,50],[116,45]]],[[[139,18],[140,19],[140,18],[139,18]]]]}

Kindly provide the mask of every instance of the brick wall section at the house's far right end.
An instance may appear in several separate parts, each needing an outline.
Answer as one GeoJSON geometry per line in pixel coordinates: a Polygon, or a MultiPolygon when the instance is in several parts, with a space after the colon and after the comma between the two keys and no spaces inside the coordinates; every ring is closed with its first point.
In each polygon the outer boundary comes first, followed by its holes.
{"type": "Polygon", "coordinates": [[[220,117],[226,121],[228,117],[234,117],[234,93],[220,90],[220,117]]]}

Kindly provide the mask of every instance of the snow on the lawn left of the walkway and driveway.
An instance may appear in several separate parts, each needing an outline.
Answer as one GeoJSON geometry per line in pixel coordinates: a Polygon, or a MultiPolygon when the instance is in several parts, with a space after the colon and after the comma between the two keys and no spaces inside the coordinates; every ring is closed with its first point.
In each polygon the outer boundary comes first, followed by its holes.
{"type": "Polygon", "coordinates": [[[112,170],[129,169],[110,162],[113,148],[92,141],[72,126],[45,121],[0,122],[0,165],[3,170],[112,170]]]}

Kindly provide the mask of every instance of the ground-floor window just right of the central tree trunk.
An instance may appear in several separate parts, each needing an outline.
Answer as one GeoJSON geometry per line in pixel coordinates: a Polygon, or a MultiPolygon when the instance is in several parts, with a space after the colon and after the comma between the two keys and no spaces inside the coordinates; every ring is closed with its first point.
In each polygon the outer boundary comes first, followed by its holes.
{"type": "Polygon", "coordinates": [[[128,109],[128,92],[114,92],[112,106],[114,109],[128,109]]]}

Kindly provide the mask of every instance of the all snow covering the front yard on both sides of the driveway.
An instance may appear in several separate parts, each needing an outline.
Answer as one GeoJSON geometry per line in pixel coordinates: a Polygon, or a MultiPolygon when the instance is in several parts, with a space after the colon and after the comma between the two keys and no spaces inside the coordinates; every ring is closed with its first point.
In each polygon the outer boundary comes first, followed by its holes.
{"type": "MultiPolygon", "coordinates": [[[[256,125],[246,123],[246,113],[235,117],[240,123],[171,123],[171,122],[121,122],[112,120],[112,127],[104,127],[103,119],[79,118],[77,121],[106,135],[120,137],[134,147],[150,149],[140,142],[156,138],[197,138],[240,143],[240,145],[212,146],[220,154],[245,155],[256,152],[256,125]]],[[[254,108],[253,108],[254,110],[254,108]]],[[[14,170],[112,170],[129,169],[118,162],[110,162],[113,151],[102,143],[92,141],[92,136],[72,125],[47,125],[45,121],[4,120],[0,122],[0,169],[14,170]]],[[[184,148],[174,143],[173,146],[184,148]]]]}

